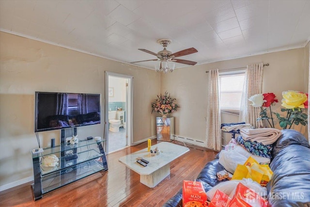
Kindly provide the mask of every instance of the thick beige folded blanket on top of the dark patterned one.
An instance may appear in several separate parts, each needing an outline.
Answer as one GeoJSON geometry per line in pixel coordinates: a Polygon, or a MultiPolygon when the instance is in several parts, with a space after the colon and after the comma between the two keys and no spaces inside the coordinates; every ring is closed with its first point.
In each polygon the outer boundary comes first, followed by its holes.
{"type": "Polygon", "coordinates": [[[276,128],[244,128],[240,130],[240,134],[244,140],[256,141],[267,145],[275,143],[282,133],[276,128]]]}

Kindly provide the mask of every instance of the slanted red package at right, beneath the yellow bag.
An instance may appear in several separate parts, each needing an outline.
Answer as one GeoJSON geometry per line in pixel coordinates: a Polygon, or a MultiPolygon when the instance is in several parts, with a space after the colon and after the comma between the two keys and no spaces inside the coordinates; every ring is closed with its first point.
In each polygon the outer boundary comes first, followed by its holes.
{"type": "Polygon", "coordinates": [[[268,202],[256,192],[239,183],[228,207],[268,207],[268,202]]]}

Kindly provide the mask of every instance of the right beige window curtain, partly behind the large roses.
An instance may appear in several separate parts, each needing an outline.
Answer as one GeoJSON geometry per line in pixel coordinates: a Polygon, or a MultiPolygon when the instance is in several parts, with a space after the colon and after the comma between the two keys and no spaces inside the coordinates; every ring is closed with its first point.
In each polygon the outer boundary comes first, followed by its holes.
{"type": "Polygon", "coordinates": [[[249,105],[248,98],[263,93],[263,63],[247,65],[243,94],[241,97],[241,106],[239,113],[239,122],[252,124],[254,128],[262,127],[263,122],[257,122],[260,117],[261,109],[249,105]]]}

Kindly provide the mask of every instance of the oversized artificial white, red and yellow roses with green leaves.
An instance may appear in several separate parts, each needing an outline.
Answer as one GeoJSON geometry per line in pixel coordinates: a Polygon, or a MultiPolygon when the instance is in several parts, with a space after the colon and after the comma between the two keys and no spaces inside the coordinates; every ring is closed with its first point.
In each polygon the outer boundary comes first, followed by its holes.
{"type": "Polygon", "coordinates": [[[303,125],[306,126],[308,124],[307,118],[308,115],[303,113],[302,109],[308,108],[308,94],[297,92],[297,91],[284,91],[282,92],[282,104],[281,106],[284,107],[281,109],[282,112],[286,111],[286,116],[281,116],[279,113],[275,113],[271,111],[271,105],[274,105],[275,102],[278,102],[275,99],[275,95],[273,93],[267,94],[257,94],[251,96],[248,100],[252,102],[253,107],[260,107],[262,112],[260,113],[261,117],[257,119],[259,120],[267,120],[270,127],[275,127],[273,122],[274,113],[278,120],[279,125],[283,129],[286,129],[288,126],[291,128],[293,124],[295,125],[303,125]],[[270,117],[267,115],[267,109],[263,109],[263,107],[269,107],[270,110],[270,117]],[[272,123],[269,121],[271,119],[272,123]]]}

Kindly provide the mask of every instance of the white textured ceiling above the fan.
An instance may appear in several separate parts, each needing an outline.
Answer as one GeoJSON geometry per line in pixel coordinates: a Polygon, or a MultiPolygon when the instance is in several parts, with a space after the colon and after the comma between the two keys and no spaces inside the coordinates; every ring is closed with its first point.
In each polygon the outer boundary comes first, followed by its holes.
{"type": "Polygon", "coordinates": [[[124,63],[156,59],[138,48],[169,38],[203,64],[304,47],[310,0],[0,0],[0,29],[124,63]]]}

